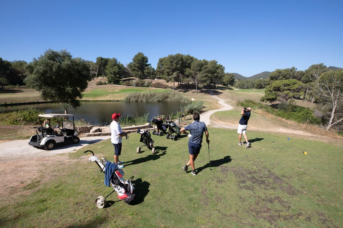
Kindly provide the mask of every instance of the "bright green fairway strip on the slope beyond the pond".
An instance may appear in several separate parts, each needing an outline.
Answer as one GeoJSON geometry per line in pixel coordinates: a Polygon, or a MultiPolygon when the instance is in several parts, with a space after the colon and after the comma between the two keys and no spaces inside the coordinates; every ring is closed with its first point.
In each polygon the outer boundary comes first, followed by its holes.
{"type": "MultiPolygon", "coordinates": [[[[108,97],[108,96],[118,96],[121,98],[120,95],[127,96],[129,93],[133,92],[168,92],[170,89],[154,89],[154,88],[146,88],[146,87],[133,87],[133,88],[103,88],[103,89],[93,89],[90,92],[83,93],[83,98],[100,98],[100,97],[108,97]]],[[[125,97],[124,96],[124,97],[125,97]]]]}

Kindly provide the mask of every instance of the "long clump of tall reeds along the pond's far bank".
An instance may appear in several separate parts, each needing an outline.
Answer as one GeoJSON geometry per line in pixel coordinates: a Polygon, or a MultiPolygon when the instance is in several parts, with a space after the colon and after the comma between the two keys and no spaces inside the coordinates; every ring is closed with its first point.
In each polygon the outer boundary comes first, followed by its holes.
{"type": "Polygon", "coordinates": [[[182,94],[169,92],[149,92],[149,93],[130,93],[126,98],[126,102],[187,102],[182,94]]]}

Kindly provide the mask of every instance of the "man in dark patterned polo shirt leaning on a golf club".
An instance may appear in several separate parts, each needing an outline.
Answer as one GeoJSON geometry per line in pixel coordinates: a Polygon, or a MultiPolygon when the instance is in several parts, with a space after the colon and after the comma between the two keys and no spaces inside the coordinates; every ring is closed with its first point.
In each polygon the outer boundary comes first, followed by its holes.
{"type": "Polygon", "coordinates": [[[200,148],[201,148],[201,142],[202,142],[202,136],[205,132],[206,134],[206,142],[209,144],[209,132],[207,131],[206,124],[204,122],[200,122],[200,115],[194,114],[193,116],[194,122],[185,126],[184,128],[181,128],[181,132],[185,135],[188,135],[189,141],[188,141],[188,152],[189,152],[189,161],[185,166],[182,166],[182,169],[185,170],[187,173],[188,166],[191,165],[192,167],[192,174],[193,176],[197,175],[197,172],[194,168],[194,161],[197,159],[200,148]],[[190,131],[190,134],[188,134],[186,131],[190,131]]]}

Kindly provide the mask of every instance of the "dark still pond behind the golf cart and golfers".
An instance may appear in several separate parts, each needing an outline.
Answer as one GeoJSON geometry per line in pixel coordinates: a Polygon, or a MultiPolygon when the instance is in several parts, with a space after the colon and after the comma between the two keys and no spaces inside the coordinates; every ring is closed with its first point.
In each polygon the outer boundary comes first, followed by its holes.
{"type": "MultiPolygon", "coordinates": [[[[84,119],[91,124],[108,125],[112,121],[113,113],[121,113],[123,116],[143,116],[149,113],[148,120],[157,115],[174,115],[180,110],[181,102],[82,102],[78,109],[69,108],[68,114],[74,115],[75,120],[84,119]]],[[[59,104],[36,104],[2,107],[3,112],[26,110],[29,108],[39,109],[46,113],[64,113],[59,104]]]]}

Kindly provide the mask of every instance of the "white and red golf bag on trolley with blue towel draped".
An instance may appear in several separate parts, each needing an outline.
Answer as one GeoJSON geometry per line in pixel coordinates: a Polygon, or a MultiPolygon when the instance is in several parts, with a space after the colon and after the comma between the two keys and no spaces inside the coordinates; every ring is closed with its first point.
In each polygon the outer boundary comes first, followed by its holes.
{"type": "Polygon", "coordinates": [[[111,184],[114,189],[106,197],[97,197],[95,199],[95,205],[98,208],[103,208],[106,205],[106,198],[114,191],[117,192],[119,199],[124,200],[125,203],[130,203],[135,197],[135,194],[132,194],[134,187],[130,179],[125,180],[123,178],[124,171],[122,169],[119,169],[118,165],[114,164],[113,162],[107,161],[106,158],[101,158],[100,161],[96,156],[94,156],[93,151],[87,150],[84,153],[86,152],[91,152],[93,154],[93,156],[91,156],[88,160],[94,161],[100,167],[100,171],[105,174],[104,184],[106,186],[109,186],[109,184],[111,184]]]}

